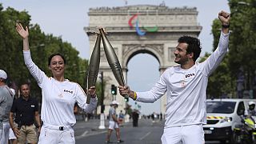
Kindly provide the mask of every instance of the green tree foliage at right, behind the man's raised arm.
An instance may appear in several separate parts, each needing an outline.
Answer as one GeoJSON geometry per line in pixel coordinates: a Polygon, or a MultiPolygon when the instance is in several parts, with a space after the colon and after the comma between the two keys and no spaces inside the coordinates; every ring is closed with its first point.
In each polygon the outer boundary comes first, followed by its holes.
{"type": "MultiPolygon", "coordinates": [[[[248,90],[255,87],[256,59],[256,1],[230,0],[230,43],[229,52],[209,78],[207,94],[221,97],[222,94],[232,95],[236,98],[236,82],[239,69],[244,70],[248,90]]],[[[215,19],[212,26],[214,35],[214,49],[218,46],[221,23],[215,19]]],[[[209,54],[206,54],[208,57],[209,54]]],[[[202,58],[202,61],[206,58],[202,58]]]]}

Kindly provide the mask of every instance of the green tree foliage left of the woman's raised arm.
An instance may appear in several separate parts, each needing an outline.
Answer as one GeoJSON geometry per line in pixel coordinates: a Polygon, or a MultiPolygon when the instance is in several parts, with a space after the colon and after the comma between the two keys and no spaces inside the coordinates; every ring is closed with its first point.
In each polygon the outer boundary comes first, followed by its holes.
{"type": "Polygon", "coordinates": [[[30,74],[24,65],[22,40],[15,30],[15,23],[19,21],[29,25],[30,15],[7,8],[0,11],[0,19],[0,67],[6,70],[10,79],[26,81],[30,74]]]}

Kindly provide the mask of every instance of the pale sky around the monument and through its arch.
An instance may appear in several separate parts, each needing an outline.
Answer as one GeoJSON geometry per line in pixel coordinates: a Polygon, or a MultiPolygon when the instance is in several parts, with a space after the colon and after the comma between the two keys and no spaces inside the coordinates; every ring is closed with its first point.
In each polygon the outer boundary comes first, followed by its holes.
{"type": "MultiPolygon", "coordinates": [[[[31,16],[31,23],[38,23],[46,34],[62,37],[65,42],[80,52],[81,58],[89,59],[89,40],[83,30],[89,25],[88,12],[90,8],[108,6],[156,5],[165,2],[166,6],[196,7],[198,10],[198,23],[202,26],[199,39],[202,42],[202,54],[211,52],[213,35],[211,25],[214,18],[218,18],[218,12],[225,10],[230,12],[227,0],[0,0],[2,6],[13,7],[15,10],[26,10],[31,16]]],[[[150,54],[138,54],[128,63],[127,84],[132,90],[150,90],[159,78],[159,63],[150,54]],[[150,66],[147,64],[150,62],[150,66]]],[[[130,104],[134,106],[134,102],[130,104]]],[[[138,103],[142,106],[142,114],[159,112],[160,102],[154,104],[138,103]]]]}

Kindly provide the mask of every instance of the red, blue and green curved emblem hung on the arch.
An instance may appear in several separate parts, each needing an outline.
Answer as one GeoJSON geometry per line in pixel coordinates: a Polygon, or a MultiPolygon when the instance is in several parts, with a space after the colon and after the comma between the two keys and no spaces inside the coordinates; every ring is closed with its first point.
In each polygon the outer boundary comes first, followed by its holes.
{"type": "Polygon", "coordinates": [[[130,19],[129,19],[129,21],[128,21],[128,25],[130,26],[130,28],[134,28],[134,25],[133,25],[133,21],[134,21],[134,19],[136,19],[136,22],[135,22],[135,30],[136,30],[136,32],[137,32],[137,34],[139,35],[139,36],[143,36],[143,35],[145,35],[146,34],[146,32],[156,32],[156,31],[158,31],[158,26],[154,26],[154,27],[148,27],[148,26],[142,26],[142,29],[143,30],[141,30],[140,28],[139,28],[139,23],[138,23],[138,14],[134,14],[130,19]]]}

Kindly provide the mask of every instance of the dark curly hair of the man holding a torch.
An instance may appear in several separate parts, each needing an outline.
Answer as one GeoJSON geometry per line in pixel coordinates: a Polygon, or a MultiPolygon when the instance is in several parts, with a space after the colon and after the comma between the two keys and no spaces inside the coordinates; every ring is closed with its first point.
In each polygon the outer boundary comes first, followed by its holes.
{"type": "Polygon", "coordinates": [[[186,43],[186,54],[194,54],[193,60],[194,62],[198,59],[201,53],[201,43],[198,38],[190,37],[190,36],[182,36],[181,38],[178,38],[179,43],[186,43]]]}

